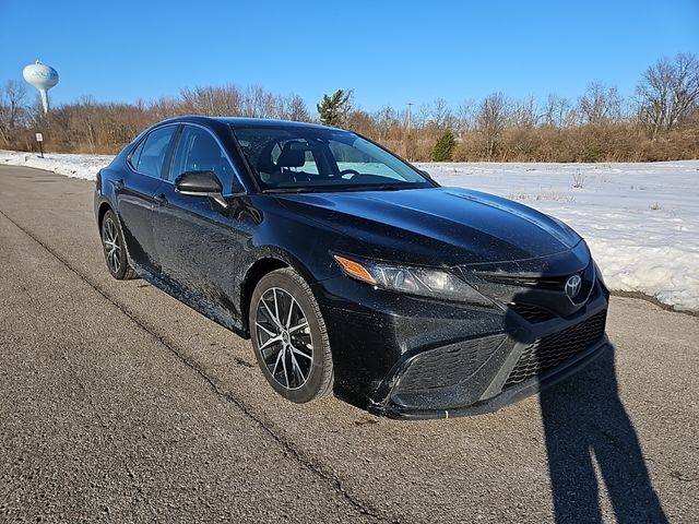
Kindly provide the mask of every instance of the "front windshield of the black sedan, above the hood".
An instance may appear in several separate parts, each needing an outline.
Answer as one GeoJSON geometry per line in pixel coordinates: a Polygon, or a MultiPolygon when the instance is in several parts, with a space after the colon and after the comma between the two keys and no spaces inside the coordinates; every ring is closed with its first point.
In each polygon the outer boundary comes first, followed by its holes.
{"type": "Polygon", "coordinates": [[[350,131],[236,126],[233,132],[260,186],[268,192],[435,186],[400,158],[350,131]]]}

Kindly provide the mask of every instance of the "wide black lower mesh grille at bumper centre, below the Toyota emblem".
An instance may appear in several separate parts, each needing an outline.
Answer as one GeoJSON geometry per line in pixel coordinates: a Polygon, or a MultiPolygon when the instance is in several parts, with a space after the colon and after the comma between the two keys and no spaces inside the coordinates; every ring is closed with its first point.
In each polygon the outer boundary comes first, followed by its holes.
{"type": "Polygon", "coordinates": [[[505,388],[554,368],[590,347],[604,335],[606,317],[606,311],[602,311],[584,322],[545,336],[528,346],[505,382],[505,388]]]}

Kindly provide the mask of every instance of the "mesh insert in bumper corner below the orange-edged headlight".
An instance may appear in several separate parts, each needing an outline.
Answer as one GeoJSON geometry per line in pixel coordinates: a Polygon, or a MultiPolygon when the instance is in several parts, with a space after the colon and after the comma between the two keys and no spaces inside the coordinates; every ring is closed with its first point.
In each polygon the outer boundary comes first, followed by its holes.
{"type": "Polygon", "coordinates": [[[401,391],[448,388],[467,380],[500,346],[505,335],[475,338],[419,354],[401,377],[401,391]]]}

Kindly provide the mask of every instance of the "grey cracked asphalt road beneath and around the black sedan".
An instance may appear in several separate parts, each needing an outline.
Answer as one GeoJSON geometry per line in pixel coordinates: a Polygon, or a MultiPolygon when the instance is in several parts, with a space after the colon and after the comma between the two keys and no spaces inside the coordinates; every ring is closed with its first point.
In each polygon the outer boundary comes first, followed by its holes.
{"type": "Polygon", "coordinates": [[[614,350],[491,415],[298,406],[109,277],[92,191],[0,167],[0,522],[697,522],[699,318],[614,297],[614,350]]]}

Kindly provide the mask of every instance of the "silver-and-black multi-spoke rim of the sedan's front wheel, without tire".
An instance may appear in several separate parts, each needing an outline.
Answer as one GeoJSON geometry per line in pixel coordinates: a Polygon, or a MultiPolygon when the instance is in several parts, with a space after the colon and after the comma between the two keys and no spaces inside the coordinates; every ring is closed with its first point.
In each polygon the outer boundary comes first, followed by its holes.
{"type": "Polygon", "coordinates": [[[287,390],[301,388],[313,364],[313,341],[306,313],[286,290],[272,287],[257,305],[259,352],[268,371],[287,390]]]}

